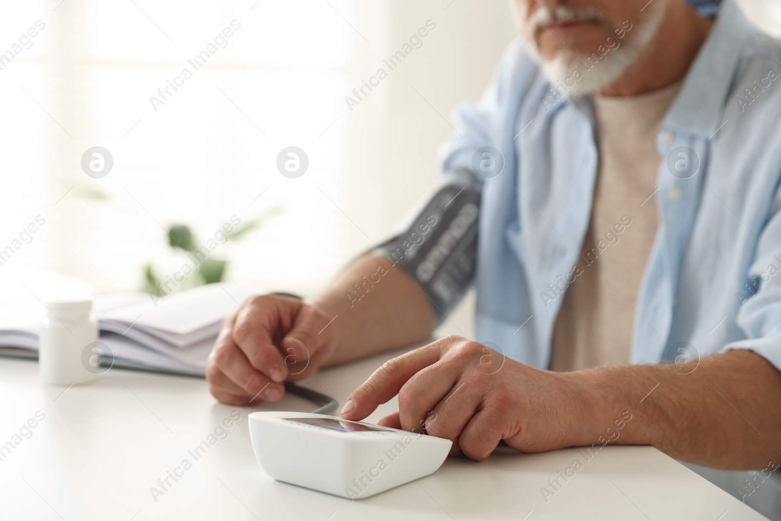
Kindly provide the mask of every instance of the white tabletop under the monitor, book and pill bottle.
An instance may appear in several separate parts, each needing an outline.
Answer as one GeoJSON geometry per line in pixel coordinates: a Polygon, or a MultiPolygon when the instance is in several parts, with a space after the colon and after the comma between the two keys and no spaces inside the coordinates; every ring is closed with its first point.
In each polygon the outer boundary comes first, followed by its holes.
{"type": "MultiPolygon", "coordinates": [[[[344,401],[385,359],[328,369],[305,385],[344,401]]],[[[765,519],[655,448],[610,445],[588,462],[575,448],[448,459],[419,483],[351,502],[266,476],[249,441],[256,409],[217,403],[204,380],[111,369],[63,389],[41,386],[36,362],[0,359],[0,444],[45,415],[0,461],[0,519],[765,519]],[[234,410],[241,420],[194,460],[188,450],[234,410]],[[583,469],[546,502],[541,487],[576,458],[583,469]],[[183,459],[191,468],[155,501],[150,487],[183,459]]],[[[289,396],[263,409],[314,407],[289,396]]]]}

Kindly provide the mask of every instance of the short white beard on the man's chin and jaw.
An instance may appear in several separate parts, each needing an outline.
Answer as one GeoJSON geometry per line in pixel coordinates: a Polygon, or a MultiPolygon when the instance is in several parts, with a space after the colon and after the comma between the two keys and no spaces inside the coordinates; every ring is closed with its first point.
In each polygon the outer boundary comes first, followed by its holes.
{"type": "MultiPolygon", "coordinates": [[[[569,48],[559,51],[553,59],[545,59],[540,55],[537,42],[533,37],[535,34],[533,26],[540,23],[535,20],[537,16],[543,20],[550,20],[552,13],[540,12],[546,8],[538,9],[526,24],[527,27],[524,31],[526,48],[530,55],[540,63],[540,68],[547,80],[560,87],[566,95],[579,96],[599,91],[619,80],[637,59],[640,52],[654,39],[665,16],[668,3],[667,0],[651,2],[644,19],[626,31],[627,35],[631,35],[631,39],[626,43],[611,36],[613,42],[611,48],[606,39],[604,48],[608,51],[604,55],[597,51],[594,52],[595,55],[600,56],[598,61],[592,58],[592,55],[586,55],[569,48]],[[616,42],[619,44],[618,47],[615,47],[616,42]]],[[[569,8],[559,7],[558,9],[565,9],[566,12],[566,9],[569,8]]],[[[626,36],[624,38],[626,39],[626,36]]]]}

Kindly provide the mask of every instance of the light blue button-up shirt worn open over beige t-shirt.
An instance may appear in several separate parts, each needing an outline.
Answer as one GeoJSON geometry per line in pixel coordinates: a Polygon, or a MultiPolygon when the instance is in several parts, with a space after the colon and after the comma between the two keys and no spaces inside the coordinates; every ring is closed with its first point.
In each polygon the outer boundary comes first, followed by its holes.
{"type": "MultiPolygon", "coordinates": [[[[590,98],[551,105],[552,92],[516,41],[480,102],[457,109],[441,151],[444,172],[471,169],[486,145],[504,156],[501,174],[483,180],[476,340],[541,368],[563,300],[544,294],[578,263],[597,173],[590,98]]],[[[631,362],[747,348],[781,369],[779,116],[781,45],[724,2],[658,132],[658,190],[646,204],[659,226],[627,303],[631,362]],[[679,159],[698,159],[697,173],[677,172],[679,159]]]]}

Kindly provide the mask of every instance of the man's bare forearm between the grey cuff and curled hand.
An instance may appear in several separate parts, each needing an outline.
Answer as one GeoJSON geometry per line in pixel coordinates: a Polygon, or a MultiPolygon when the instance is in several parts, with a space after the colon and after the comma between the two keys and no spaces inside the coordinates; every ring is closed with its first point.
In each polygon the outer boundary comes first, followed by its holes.
{"type": "Polygon", "coordinates": [[[383,255],[353,262],[312,303],[336,318],[337,346],[324,365],[422,341],[435,318],[426,295],[383,255]]]}

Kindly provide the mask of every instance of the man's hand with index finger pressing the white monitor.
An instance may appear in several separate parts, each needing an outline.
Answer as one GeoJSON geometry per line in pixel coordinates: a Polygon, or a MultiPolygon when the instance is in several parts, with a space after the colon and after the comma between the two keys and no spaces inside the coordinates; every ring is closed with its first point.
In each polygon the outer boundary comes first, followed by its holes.
{"type": "Polygon", "coordinates": [[[366,418],[398,393],[399,412],[380,424],[448,438],[451,455],[483,460],[501,440],[519,451],[549,451],[576,444],[565,433],[590,416],[590,398],[571,374],[445,337],[386,362],[350,395],[342,416],[366,418]]]}

